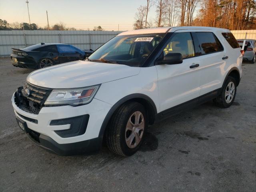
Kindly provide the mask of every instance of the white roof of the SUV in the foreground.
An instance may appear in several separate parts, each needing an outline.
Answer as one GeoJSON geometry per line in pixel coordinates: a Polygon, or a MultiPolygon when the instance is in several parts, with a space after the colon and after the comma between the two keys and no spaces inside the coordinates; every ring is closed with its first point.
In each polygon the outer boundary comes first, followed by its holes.
{"type": "Polygon", "coordinates": [[[190,30],[223,30],[225,32],[230,32],[228,29],[224,28],[216,28],[216,27],[202,27],[202,26],[180,26],[180,27],[157,27],[157,28],[147,28],[147,29],[138,29],[138,30],[132,30],[132,31],[126,31],[118,34],[120,35],[133,35],[133,34],[154,34],[154,33],[166,33],[166,32],[174,32],[176,30],[184,30],[184,29],[190,29],[190,30]]]}

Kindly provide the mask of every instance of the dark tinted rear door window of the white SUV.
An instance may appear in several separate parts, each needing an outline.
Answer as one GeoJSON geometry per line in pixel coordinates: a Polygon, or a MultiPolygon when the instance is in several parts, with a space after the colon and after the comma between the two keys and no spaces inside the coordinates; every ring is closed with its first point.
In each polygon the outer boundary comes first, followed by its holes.
{"type": "Polygon", "coordinates": [[[223,47],[220,41],[212,32],[196,32],[199,47],[202,54],[222,51],[223,47]]]}

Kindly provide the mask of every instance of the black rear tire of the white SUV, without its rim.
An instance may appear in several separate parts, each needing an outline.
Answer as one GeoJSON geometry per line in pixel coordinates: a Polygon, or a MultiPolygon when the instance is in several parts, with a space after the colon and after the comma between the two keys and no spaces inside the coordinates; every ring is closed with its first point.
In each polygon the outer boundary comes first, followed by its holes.
{"type": "Polygon", "coordinates": [[[226,82],[224,83],[221,94],[216,99],[214,99],[213,102],[214,102],[214,104],[216,104],[216,106],[219,106],[222,108],[228,108],[234,102],[235,97],[236,97],[236,80],[234,79],[234,77],[228,76],[226,82]],[[227,102],[226,101],[227,97],[225,97],[225,92],[226,92],[228,84],[230,84],[230,82],[234,83],[234,96],[230,102],[227,102]]]}

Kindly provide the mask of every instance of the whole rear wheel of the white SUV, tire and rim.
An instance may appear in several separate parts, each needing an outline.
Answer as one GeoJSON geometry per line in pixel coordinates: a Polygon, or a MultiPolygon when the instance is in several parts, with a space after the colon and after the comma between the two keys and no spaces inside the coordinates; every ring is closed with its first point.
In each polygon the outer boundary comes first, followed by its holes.
{"type": "Polygon", "coordinates": [[[228,77],[226,80],[220,96],[214,99],[217,106],[228,108],[234,102],[236,97],[236,80],[233,77],[228,77]]]}

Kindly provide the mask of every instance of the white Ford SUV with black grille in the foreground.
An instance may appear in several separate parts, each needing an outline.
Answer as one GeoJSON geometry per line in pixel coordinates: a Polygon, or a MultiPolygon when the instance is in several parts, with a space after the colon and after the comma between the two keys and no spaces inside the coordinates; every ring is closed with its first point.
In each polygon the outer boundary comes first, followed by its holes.
{"type": "Polygon", "coordinates": [[[36,70],[12,96],[18,125],[39,146],[72,155],[108,148],[130,156],[148,124],[208,100],[229,107],[242,53],[229,30],[123,32],[85,61],[36,70]]]}

